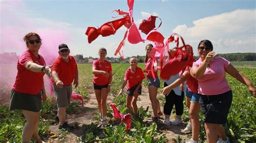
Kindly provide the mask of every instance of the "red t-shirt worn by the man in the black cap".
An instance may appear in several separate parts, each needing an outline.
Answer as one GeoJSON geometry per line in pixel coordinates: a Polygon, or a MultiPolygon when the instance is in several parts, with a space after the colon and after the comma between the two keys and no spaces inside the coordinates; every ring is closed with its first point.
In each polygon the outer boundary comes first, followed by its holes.
{"type": "MultiPolygon", "coordinates": [[[[69,63],[58,56],[58,58],[53,62],[51,70],[58,73],[59,80],[62,81],[64,85],[69,85],[75,78],[76,69],[76,60],[70,55],[69,63]]],[[[51,82],[56,84],[52,79],[51,82]]]]}

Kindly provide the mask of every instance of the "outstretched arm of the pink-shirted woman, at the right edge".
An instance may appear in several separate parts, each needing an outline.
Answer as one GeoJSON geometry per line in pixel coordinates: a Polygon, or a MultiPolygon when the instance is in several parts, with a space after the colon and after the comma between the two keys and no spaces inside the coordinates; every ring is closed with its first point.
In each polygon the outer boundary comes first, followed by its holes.
{"type": "Polygon", "coordinates": [[[256,95],[256,89],[255,89],[254,85],[244,74],[242,74],[240,71],[235,69],[231,64],[228,65],[228,67],[225,69],[225,71],[228,74],[230,74],[231,76],[233,76],[235,79],[237,79],[239,82],[247,85],[251,95],[254,95],[254,96],[256,95]]]}

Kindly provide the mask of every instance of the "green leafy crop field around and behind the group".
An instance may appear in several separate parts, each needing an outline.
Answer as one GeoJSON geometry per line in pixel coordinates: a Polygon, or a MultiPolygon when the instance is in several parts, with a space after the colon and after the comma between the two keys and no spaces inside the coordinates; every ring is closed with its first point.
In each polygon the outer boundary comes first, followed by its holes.
{"type": "MultiPolygon", "coordinates": [[[[234,66],[240,66],[240,63],[232,62],[234,66]]],[[[255,64],[255,62],[253,62],[255,64]]],[[[252,64],[252,65],[253,65],[252,64]]],[[[241,63],[242,65],[242,63],[241,63]]],[[[255,65],[254,65],[255,66],[255,65]]],[[[144,69],[144,64],[139,63],[139,67],[144,69]]],[[[85,99],[89,99],[89,89],[92,87],[92,64],[79,64],[79,88],[75,89],[76,92],[82,94],[85,99]]],[[[116,96],[120,90],[123,82],[125,70],[129,68],[129,64],[113,63],[113,83],[111,86],[111,95],[116,96]]],[[[253,83],[256,84],[256,69],[254,68],[238,68],[245,74],[253,83]]],[[[255,142],[256,141],[256,99],[252,97],[246,85],[241,84],[233,77],[227,75],[228,83],[233,90],[233,103],[228,115],[228,122],[225,124],[225,129],[228,137],[232,142],[255,142]]],[[[2,84],[4,81],[1,81],[2,84]]],[[[147,82],[143,81],[143,86],[147,86],[147,82]]],[[[10,87],[1,88],[1,91],[10,90],[10,87]]],[[[161,82],[163,88],[163,82],[161,82]]],[[[159,88],[159,90],[161,89],[159,88]]],[[[214,88],[214,87],[213,87],[214,88]]],[[[160,95],[160,94],[159,94],[160,95]]],[[[119,103],[119,110],[126,114],[129,111],[125,108],[125,96],[116,97],[113,102],[119,103]]],[[[163,99],[163,98],[160,98],[163,99]]],[[[185,104],[185,102],[184,102],[185,104]]],[[[48,132],[50,120],[54,118],[52,111],[56,111],[56,103],[51,103],[50,99],[44,103],[44,108],[41,111],[41,121],[39,123],[39,135],[43,139],[48,140],[50,134],[48,132]]],[[[111,112],[109,110],[108,112],[111,112]]],[[[73,102],[68,110],[68,113],[79,113],[78,104],[73,102]]],[[[108,115],[111,117],[111,114],[108,115]]],[[[159,124],[148,124],[143,121],[144,118],[149,117],[149,113],[145,109],[139,109],[139,115],[134,116],[132,119],[132,130],[125,131],[125,125],[111,125],[104,130],[97,127],[97,124],[83,125],[83,135],[80,140],[86,142],[165,142],[166,137],[164,134],[159,136],[159,124]],[[102,132],[104,138],[100,138],[99,132],[102,132]]],[[[21,134],[24,125],[24,117],[21,112],[8,111],[6,106],[0,105],[0,142],[21,142],[21,134]]],[[[184,109],[183,120],[187,121],[188,111],[184,109]]],[[[200,140],[205,141],[206,135],[203,125],[203,115],[200,114],[201,131],[200,140]]],[[[190,137],[191,134],[188,134],[190,137]]]]}

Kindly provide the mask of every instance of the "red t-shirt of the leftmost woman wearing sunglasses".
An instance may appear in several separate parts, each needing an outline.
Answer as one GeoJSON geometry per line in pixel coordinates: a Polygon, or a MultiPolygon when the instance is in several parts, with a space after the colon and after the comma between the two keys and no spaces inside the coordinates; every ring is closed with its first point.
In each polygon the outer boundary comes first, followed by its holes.
{"type": "MultiPolygon", "coordinates": [[[[39,54],[38,54],[39,55],[39,54]]],[[[38,65],[45,66],[45,61],[42,55],[39,58],[28,50],[23,52],[18,59],[18,73],[13,89],[23,94],[37,95],[43,88],[44,73],[36,73],[25,68],[26,62],[33,61],[38,65]]]]}

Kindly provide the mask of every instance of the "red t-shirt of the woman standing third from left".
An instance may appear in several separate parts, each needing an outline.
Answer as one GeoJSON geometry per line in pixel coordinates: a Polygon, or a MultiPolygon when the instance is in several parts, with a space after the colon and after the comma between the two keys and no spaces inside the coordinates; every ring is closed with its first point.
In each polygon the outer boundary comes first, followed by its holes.
{"type": "MultiPolygon", "coordinates": [[[[92,63],[92,67],[96,67],[96,70],[103,70],[107,73],[112,71],[111,63],[107,60],[105,60],[105,62],[101,62],[99,59],[97,59],[92,63]]],[[[103,74],[95,74],[93,77],[93,83],[97,85],[109,84],[109,77],[106,77],[103,74]]]]}

